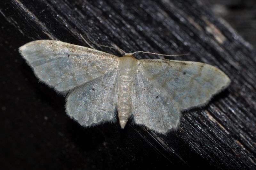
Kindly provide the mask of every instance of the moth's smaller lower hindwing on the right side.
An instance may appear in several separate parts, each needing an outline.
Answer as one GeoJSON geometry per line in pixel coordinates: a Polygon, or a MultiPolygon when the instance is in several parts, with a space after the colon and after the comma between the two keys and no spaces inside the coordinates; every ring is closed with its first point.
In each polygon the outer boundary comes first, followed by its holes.
{"type": "Polygon", "coordinates": [[[167,133],[180,122],[180,110],[161,90],[139,72],[132,88],[132,116],[136,124],[167,133]]]}

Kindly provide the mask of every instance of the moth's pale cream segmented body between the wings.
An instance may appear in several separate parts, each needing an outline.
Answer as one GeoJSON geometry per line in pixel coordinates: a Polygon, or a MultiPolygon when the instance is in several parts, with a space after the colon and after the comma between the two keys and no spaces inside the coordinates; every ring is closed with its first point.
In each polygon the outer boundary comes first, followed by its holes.
{"type": "Polygon", "coordinates": [[[138,70],[138,60],[131,55],[119,58],[117,111],[121,128],[124,128],[132,112],[132,86],[138,70]]]}

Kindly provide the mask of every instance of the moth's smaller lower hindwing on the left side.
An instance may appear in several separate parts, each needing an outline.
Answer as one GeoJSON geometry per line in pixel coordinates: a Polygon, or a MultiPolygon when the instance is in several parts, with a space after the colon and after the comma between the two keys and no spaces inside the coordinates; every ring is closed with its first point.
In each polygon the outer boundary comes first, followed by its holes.
{"type": "Polygon", "coordinates": [[[114,70],[75,88],[67,98],[67,114],[83,126],[116,122],[116,75],[114,70]]]}

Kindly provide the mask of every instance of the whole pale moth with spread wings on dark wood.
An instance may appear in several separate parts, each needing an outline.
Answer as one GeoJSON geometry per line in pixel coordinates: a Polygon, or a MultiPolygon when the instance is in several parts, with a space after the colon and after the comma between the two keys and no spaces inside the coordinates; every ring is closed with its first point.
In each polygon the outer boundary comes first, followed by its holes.
{"type": "MultiPolygon", "coordinates": [[[[177,128],[181,111],[204,106],[230,79],[209,64],[117,57],[61,41],[38,40],[19,48],[36,76],[67,93],[66,112],[82,126],[130,117],[158,133],[177,128]]],[[[122,50],[123,51],[123,50],[122,50]]],[[[136,52],[135,52],[136,53],[136,52]]]]}

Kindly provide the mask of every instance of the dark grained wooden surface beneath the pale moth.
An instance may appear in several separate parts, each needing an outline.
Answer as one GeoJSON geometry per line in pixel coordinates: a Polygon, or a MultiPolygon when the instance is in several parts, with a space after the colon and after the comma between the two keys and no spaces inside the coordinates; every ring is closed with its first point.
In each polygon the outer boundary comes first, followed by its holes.
{"type": "Polygon", "coordinates": [[[255,51],[200,1],[8,0],[0,1],[0,21],[1,168],[256,167],[255,51]],[[41,39],[86,46],[80,33],[127,52],[190,54],[165,58],[209,63],[232,82],[207,106],[184,112],[180,128],[167,135],[130,123],[124,130],[118,123],[84,128],[17,50],[41,39]]]}

